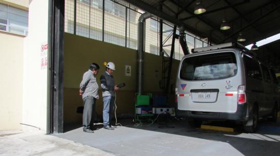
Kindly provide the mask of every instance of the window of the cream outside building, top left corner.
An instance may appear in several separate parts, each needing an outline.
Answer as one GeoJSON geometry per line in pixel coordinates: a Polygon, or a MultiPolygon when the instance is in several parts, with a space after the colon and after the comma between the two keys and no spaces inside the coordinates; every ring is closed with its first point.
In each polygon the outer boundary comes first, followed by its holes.
{"type": "Polygon", "coordinates": [[[0,30],[28,34],[28,12],[0,4],[0,30]]]}

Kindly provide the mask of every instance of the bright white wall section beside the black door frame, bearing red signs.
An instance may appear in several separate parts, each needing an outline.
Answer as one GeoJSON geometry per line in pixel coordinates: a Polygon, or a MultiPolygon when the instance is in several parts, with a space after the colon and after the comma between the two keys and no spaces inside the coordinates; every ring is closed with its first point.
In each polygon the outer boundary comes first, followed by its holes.
{"type": "Polygon", "coordinates": [[[22,123],[41,130],[47,128],[48,70],[41,69],[41,44],[47,40],[48,1],[33,0],[29,6],[29,35],[24,40],[22,123]]]}

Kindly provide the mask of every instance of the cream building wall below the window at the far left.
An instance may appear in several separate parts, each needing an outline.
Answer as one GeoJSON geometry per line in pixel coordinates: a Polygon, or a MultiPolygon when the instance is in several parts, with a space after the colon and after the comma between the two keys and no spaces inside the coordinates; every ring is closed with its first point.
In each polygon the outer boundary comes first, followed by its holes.
{"type": "Polygon", "coordinates": [[[0,31],[0,131],[21,128],[23,38],[0,31]]]}

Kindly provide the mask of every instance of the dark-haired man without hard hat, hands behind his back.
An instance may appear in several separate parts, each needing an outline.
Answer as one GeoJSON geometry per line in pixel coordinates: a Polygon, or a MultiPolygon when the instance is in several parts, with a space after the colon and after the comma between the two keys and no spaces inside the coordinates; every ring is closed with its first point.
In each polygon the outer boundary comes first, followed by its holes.
{"type": "Polygon", "coordinates": [[[92,63],[90,69],[83,73],[82,81],[80,83],[79,93],[82,95],[83,100],[83,113],[82,113],[82,127],[83,132],[93,133],[90,129],[93,125],[93,114],[95,112],[95,101],[99,99],[98,84],[96,82],[96,75],[98,74],[99,65],[92,63]]]}

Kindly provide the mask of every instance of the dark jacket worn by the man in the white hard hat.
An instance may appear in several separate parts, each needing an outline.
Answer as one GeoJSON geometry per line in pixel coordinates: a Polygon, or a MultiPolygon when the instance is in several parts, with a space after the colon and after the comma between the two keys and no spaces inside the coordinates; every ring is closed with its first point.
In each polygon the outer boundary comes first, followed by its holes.
{"type": "Polygon", "coordinates": [[[115,80],[113,75],[110,75],[107,71],[105,71],[101,77],[101,88],[102,88],[102,97],[113,96],[115,97],[115,80]]]}

